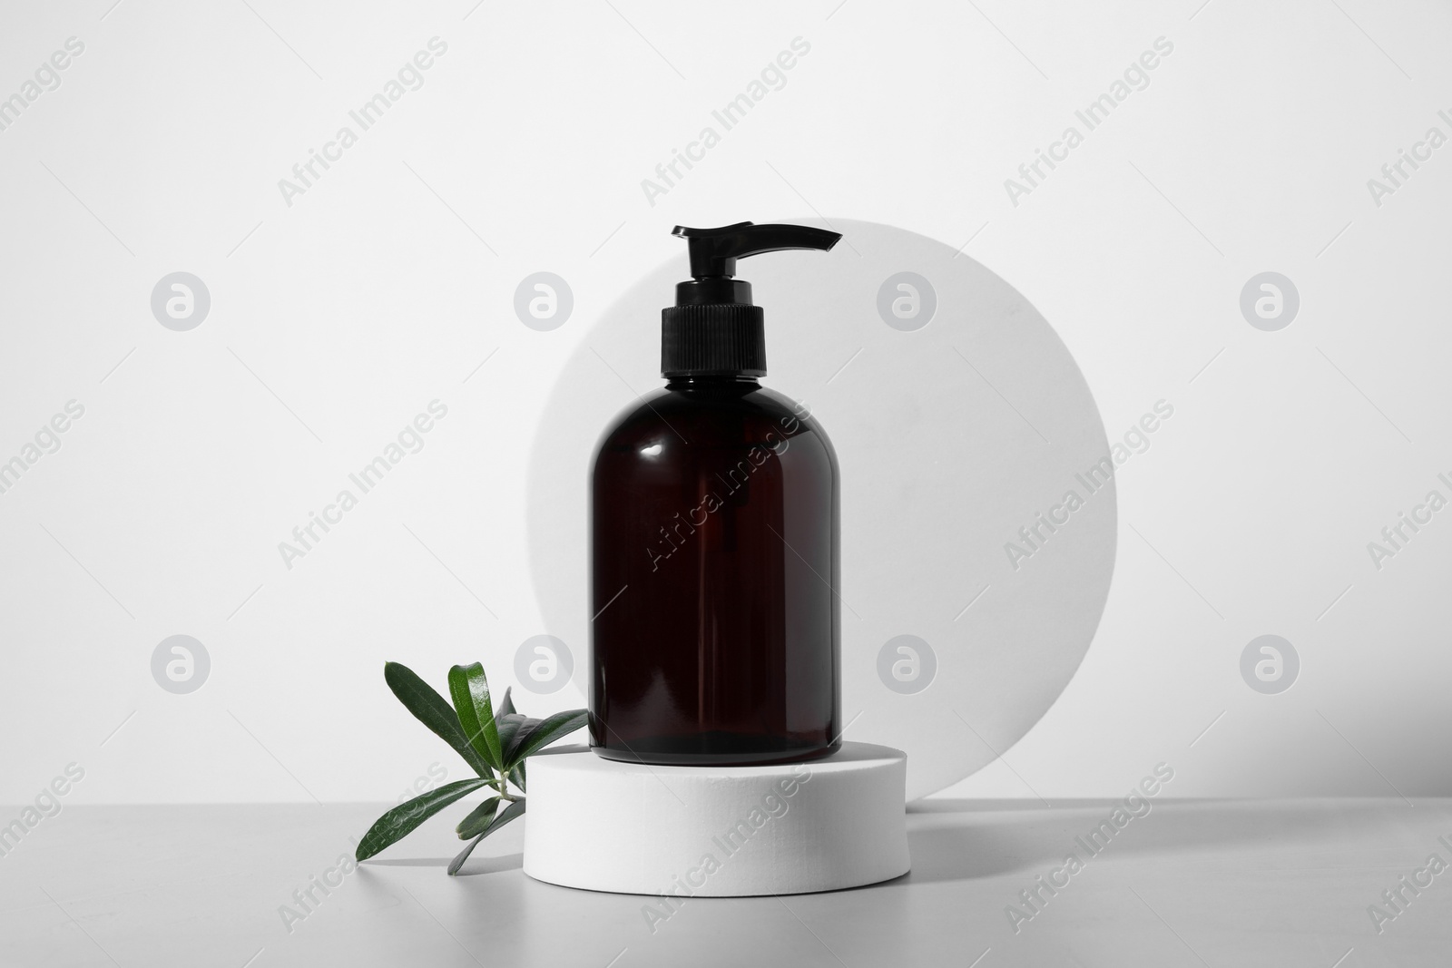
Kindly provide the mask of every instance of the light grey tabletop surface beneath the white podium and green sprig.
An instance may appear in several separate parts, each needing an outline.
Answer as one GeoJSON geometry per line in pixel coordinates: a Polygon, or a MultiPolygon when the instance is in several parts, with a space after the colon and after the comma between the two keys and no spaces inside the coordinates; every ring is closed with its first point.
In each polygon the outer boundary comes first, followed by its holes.
{"type": "MultiPolygon", "coordinates": [[[[652,932],[650,898],[520,869],[515,823],[460,877],[446,810],[317,898],[379,805],[65,807],[0,856],[10,965],[1363,965],[1452,964],[1452,869],[1381,933],[1368,913],[1433,853],[1452,800],[1156,801],[1096,856],[1108,801],[928,801],[913,869],[870,888],[696,898],[652,932]],[[1005,908],[1074,850],[1083,868],[1015,930],[1005,908]]],[[[9,810],[3,816],[16,816],[9,810]]],[[[526,816],[523,823],[529,823],[526,816]]],[[[1064,875],[1059,875],[1063,881],[1064,875]]],[[[1423,879],[1430,877],[1422,875],[1423,879]]],[[[1391,910],[1391,908],[1385,908],[1391,910]]]]}

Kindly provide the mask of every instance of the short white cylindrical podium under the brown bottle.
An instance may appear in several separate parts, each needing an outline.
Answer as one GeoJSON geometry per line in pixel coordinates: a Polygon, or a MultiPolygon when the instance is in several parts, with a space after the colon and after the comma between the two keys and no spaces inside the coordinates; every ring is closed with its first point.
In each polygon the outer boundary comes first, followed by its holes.
{"type": "MultiPolygon", "coordinates": [[[[804,894],[908,872],[908,758],[844,743],[783,766],[648,766],[588,749],[529,760],[524,872],[591,891],[804,894]]],[[[669,897],[662,904],[668,917],[669,897]]]]}

